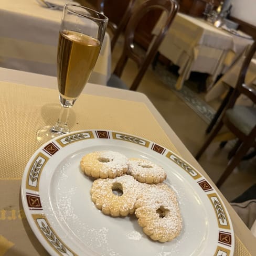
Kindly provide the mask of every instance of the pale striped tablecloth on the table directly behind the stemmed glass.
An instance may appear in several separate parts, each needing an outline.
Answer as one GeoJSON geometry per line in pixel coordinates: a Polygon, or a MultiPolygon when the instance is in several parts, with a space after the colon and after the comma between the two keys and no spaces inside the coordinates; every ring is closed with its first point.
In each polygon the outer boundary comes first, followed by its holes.
{"type": "MultiPolygon", "coordinates": [[[[0,67],[56,76],[61,15],[61,10],[42,7],[36,0],[1,0],[0,67]]],[[[110,74],[110,37],[106,34],[89,82],[105,85],[110,74]]]]}

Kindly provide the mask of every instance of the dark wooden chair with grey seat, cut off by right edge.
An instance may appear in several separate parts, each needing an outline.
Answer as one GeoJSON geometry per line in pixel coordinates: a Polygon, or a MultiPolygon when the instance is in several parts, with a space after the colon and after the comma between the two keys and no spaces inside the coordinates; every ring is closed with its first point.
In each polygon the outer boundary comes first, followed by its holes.
{"type": "Polygon", "coordinates": [[[246,72],[250,64],[251,58],[256,51],[256,42],[251,46],[248,55],[242,63],[242,68],[239,73],[238,81],[226,108],[223,110],[220,120],[217,122],[216,127],[209,134],[206,142],[202,145],[199,152],[196,155],[198,160],[202,153],[205,152],[211,141],[220,131],[223,125],[226,125],[228,129],[236,135],[238,142],[229,154],[229,161],[226,169],[219,178],[216,185],[219,187],[231,174],[232,170],[240,163],[244,155],[247,154],[251,147],[256,147],[256,108],[253,106],[235,105],[236,100],[241,94],[249,97],[254,103],[256,103],[256,87],[249,87],[244,83],[246,72]]]}

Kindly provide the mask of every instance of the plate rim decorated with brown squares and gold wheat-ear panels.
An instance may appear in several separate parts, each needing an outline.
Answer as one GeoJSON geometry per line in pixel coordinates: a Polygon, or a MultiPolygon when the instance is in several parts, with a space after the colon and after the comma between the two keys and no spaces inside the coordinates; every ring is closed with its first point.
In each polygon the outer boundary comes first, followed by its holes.
{"type": "Polygon", "coordinates": [[[167,157],[170,161],[184,169],[202,189],[202,192],[205,193],[211,202],[212,210],[215,212],[218,222],[218,241],[216,241],[217,245],[214,256],[233,255],[234,231],[231,219],[225,204],[208,180],[196,168],[176,153],[168,150],[168,148],[140,136],[113,130],[80,130],[61,135],[42,145],[29,159],[22,178],[22,204],[31,229],[49,253],[55,252],[55,255],[77,255],[62,242],[44,215],[40,201],[40,175],[47,161],[61,148],[78,141],[94,138],[125,141],[147,147],[149,150],[167,157]]]}

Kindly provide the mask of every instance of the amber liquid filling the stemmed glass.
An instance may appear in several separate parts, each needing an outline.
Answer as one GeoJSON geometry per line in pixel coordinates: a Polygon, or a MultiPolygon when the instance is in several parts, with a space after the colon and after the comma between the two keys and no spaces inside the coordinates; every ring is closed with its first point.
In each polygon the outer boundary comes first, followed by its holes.
{"type": "Polygon", "coordinates": [[[86,85],[99,56],[97,39],[74,31],[59,34],[57,77],[63,98],[76,99],[86,85]]]}

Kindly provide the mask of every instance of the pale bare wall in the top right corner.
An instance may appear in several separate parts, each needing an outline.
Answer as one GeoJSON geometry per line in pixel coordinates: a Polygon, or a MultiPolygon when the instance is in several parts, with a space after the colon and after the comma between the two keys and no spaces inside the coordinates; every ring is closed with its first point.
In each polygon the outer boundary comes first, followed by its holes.
{"type": "Polygon", "coordinates": [[[256,26],[256,1],[231,0],[231,16],[256,26]]]}

